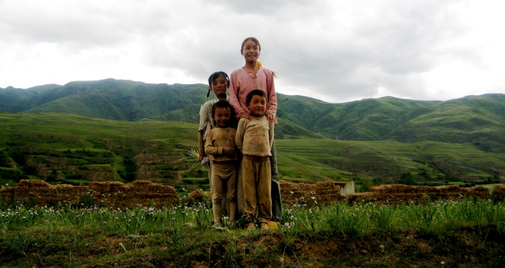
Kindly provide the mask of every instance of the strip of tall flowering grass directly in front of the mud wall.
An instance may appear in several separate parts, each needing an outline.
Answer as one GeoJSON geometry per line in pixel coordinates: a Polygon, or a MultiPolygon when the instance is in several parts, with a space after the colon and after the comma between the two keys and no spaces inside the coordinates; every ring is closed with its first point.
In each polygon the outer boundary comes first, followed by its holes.
{"type": "MultiPolygon", "coordinates": [[[[80,204],[80,205],[83,205],[80,204]]],[[[184,226],[204,228],[212,222],[211,202],[179,203],[169,207],[76,207],[71,205],[33,206],[0,202],[0,229],[59,226],[100,230],[114,234],[145,234],[176,230],[184,226]]],[[[379,230],[417,230],[439,233],[449,226],[481,227],[505,224],[502,202],[472,198],[408,202],[398,206],[373,202],[335,202],[332,205],[293,205],[284,207],[282,229],[296,228],[303,232],[331,232],[357,235],[379,230]]]]}

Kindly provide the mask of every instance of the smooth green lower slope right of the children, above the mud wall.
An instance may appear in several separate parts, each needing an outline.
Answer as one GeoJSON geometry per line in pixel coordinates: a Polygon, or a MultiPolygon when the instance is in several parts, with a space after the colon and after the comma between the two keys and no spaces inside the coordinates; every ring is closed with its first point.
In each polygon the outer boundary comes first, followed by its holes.
{"type": "Polygon", "coordinates": [[[414,175],[425,171],[432,178],[443,177],[451,170],[454,175],[477,180],[493,177],[490,167],[501,170],[505,163],[504,155],[486,153],[472,145],[429,141],[276,140],[276,148],[281,175],[282,170],[294,174],[317,170],[321,173],[318,177],[340,177],[343,180],[382,177],[394,181],[405,170],[414,175]],[[474,170],[487,173],[476,176],[474,170]]]}

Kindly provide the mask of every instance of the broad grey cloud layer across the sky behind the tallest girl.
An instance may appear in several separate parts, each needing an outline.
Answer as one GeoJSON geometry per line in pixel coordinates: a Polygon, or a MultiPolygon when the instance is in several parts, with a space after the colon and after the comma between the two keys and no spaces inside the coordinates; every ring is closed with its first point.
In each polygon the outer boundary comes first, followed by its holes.
{"type": "Polygon", "coordinates": [[[425,73],[439,63],[486,67],[480,48],[458,41],[471,25],[455,0],[85,1],[53,13],[1,3],[0,47],[49,42],[91,57],[118,51],[114,56],[130,57],[121,62],[142,70],[207,83],[214,71],[243,66],[240,43],[256,36],[260,60],[278,73],[278,91],[332,101],[381,94],[433,98],[425,73]]]}

